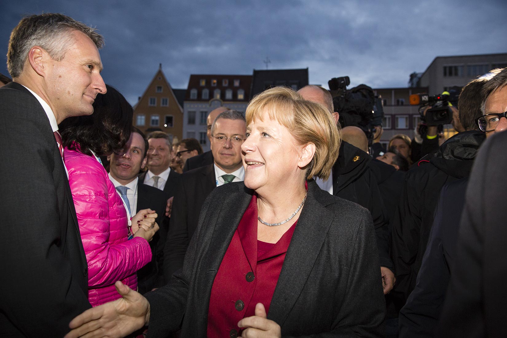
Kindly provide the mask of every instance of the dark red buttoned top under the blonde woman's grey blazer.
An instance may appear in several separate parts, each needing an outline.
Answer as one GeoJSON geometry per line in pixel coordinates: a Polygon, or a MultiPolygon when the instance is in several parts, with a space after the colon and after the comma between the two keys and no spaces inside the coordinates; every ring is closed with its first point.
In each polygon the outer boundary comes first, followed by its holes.
{"type": "Polygon", "coordinates": [[[255,315],[257,303],[268,313],[296,223],[275,244],[258,241],[257,196],[252,196],[213,281],[207,337],[241,335],[237,323],[255,315]]]}

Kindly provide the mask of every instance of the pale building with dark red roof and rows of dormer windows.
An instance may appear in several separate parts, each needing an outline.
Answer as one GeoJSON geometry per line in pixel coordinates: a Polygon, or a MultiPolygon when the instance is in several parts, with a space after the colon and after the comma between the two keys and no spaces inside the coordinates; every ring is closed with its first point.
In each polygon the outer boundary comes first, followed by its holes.
{"type": "Polygon", "coordinates": [[[191,74],[183,106],[183,138],[196,138],[207,152],[209,112],[225,106],[244,114],[250,101],[251,79],[251,75],[191,74]]]}

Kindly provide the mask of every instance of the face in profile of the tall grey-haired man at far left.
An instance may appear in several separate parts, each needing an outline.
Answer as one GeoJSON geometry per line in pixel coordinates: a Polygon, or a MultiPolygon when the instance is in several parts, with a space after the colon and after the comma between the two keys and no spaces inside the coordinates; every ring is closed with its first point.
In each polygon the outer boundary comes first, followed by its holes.
{"type": "Polygon", "coordinates": [[[95,97],[106,92],[97,47],[84,33],[71,34],[73,43],[65,56],[61,61],[49,58],[45,76],[49,104],[63,118],[91,115],[95,97]]]}

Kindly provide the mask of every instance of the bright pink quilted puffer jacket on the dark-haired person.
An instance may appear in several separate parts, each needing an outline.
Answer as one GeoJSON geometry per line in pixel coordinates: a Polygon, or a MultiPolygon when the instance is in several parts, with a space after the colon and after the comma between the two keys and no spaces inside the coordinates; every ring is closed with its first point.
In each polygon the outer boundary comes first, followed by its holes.
{"type": "Polygon", "coordinates": [[[136,271],[152,260],[148,241],[127,240],[127,212],[114,184],[95,157],[65,148],[65,167],[88,262],[92,306],[120,298],[115,282],[137,290],[136,271]]]}

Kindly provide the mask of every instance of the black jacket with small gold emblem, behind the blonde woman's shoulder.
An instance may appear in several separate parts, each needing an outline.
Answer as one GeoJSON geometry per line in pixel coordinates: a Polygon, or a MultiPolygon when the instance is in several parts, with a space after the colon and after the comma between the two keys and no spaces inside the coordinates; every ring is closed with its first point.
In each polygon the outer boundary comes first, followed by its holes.
{"type": "Polygon", "coordinates": [[[375,227],[380,266],[393,270],[389,255],[388,217],[377,180],[368,165],[371,160],[370,155],[343,141],[338,159],[333,166],[333,195],[355,202],[370,211],[375,227]]]}

